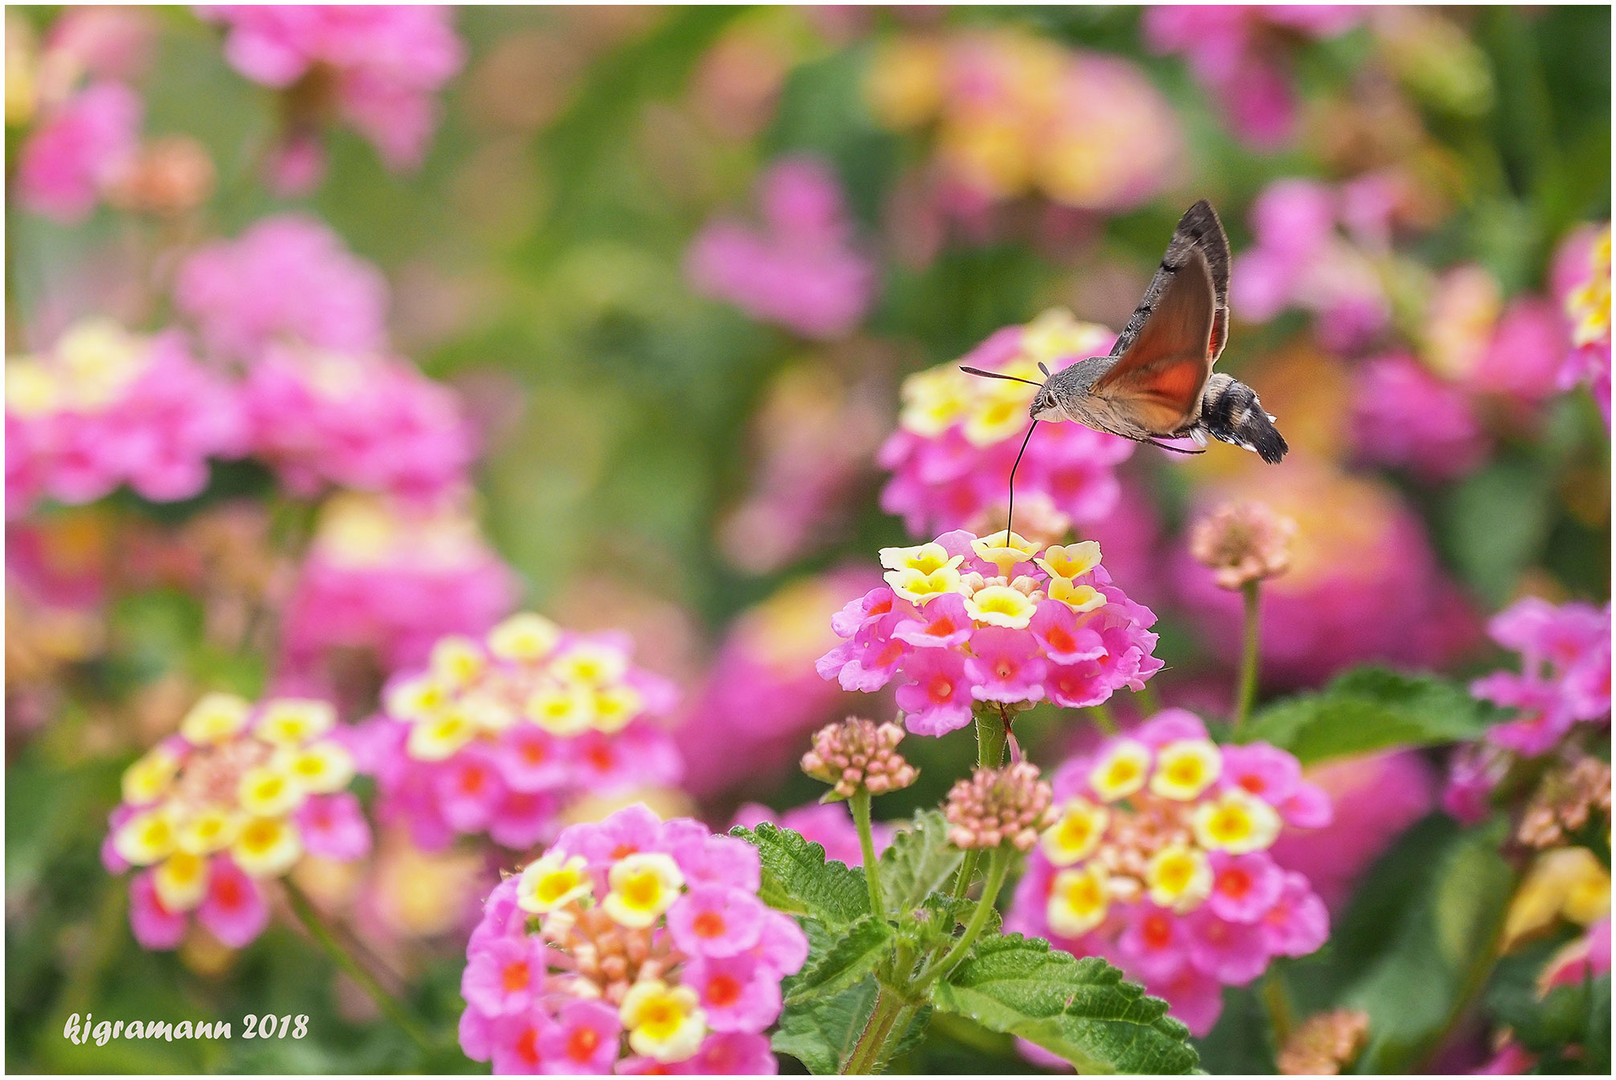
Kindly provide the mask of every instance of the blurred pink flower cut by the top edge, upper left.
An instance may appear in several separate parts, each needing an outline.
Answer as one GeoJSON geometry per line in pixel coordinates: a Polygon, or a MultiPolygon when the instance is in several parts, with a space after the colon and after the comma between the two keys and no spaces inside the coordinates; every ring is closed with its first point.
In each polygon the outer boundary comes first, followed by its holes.
{"type": "Polygon", "coordinates": [[[393,170],[420,165],[436,94],[465,61],[440,5],[218,5],[197,15],[228,27],[225,58],[254,82],[330,94],[393,170]]]}

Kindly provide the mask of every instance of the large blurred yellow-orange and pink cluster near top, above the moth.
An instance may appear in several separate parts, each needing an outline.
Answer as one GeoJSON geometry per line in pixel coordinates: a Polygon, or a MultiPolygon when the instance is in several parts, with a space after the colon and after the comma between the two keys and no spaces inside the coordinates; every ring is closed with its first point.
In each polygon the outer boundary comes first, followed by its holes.
{"type": "Polygon", "coordinates": [[[1183,142],[1134,65],[1007,29],[894,39],[865,97],[884,128],[934,126],[937,171],[976,204],[1039,192],[1083,210],[1136,207],[1183,142]]]}

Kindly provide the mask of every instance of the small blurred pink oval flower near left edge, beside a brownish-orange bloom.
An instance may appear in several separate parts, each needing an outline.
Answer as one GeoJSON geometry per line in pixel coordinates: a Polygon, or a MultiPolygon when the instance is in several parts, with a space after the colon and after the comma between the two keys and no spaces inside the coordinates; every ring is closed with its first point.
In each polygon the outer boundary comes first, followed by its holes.
{"type": "Polygon", "coordinates": [[[40,116],[18,150],[18,204],[71,225],[134,162],[141,144],[141,99],[121,82],[92,82],[40,116]]]}

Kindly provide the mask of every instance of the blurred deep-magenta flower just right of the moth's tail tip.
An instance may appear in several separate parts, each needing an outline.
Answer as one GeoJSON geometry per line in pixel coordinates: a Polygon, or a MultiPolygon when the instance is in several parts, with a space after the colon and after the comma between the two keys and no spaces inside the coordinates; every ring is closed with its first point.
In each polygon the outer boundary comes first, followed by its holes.
{"type": "Polygon", "coordinates": [[[1490,448],[1469,396],[1406,352],[1364,365],[1354,388],[1353,443],[1361,461],[1408,469],[1427,482],[1466,475],[1490,448]]]}

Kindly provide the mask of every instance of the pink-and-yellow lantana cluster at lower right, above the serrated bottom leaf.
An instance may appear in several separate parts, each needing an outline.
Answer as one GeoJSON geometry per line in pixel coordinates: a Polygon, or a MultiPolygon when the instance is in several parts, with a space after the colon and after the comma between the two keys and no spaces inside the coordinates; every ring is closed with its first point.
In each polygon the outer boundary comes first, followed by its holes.
{"type": "Polygon", "coordinates": [[[1328,936],[1324,901],[1269,847],[1330,823],[1330,799],[1264,742],[1220,747],[1165,710],[1054,774],[1055,823],[1005,918],[1075,956],[1104,956],[1206,1035],[1223,986],[1328,936]]]}

